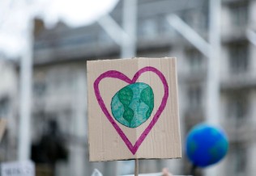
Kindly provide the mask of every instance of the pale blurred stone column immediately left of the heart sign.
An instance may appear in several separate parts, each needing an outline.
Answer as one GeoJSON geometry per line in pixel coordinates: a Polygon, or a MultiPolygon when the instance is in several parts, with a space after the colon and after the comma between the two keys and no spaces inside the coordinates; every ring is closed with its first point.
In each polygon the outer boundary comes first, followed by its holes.
{"type": "MultiPolygon", "coordinates": [[[[85,69],[84,69],[85,70],[85,69]]],[[[86,161],[86,145],[87,144],[87,87],[86,73],[84,70],[78,70],[74,75],[74,101],[73,101],[73,117],[75,144],[71,144],[70,165],[71,172],[74,176],[90,175],[89,164],[86,161]]],[[[74,141],[74,140],[71,140],[74,141]]]]}

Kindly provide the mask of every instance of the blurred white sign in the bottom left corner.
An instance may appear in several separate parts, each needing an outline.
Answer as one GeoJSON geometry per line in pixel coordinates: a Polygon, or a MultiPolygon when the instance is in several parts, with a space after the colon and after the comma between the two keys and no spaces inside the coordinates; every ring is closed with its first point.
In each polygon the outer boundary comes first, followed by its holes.
{"type": "Polygon", "coordinates": [[[35,165],[32,161],[2,163],[1,175],[2,176],[35,176],[35,165]]]}

